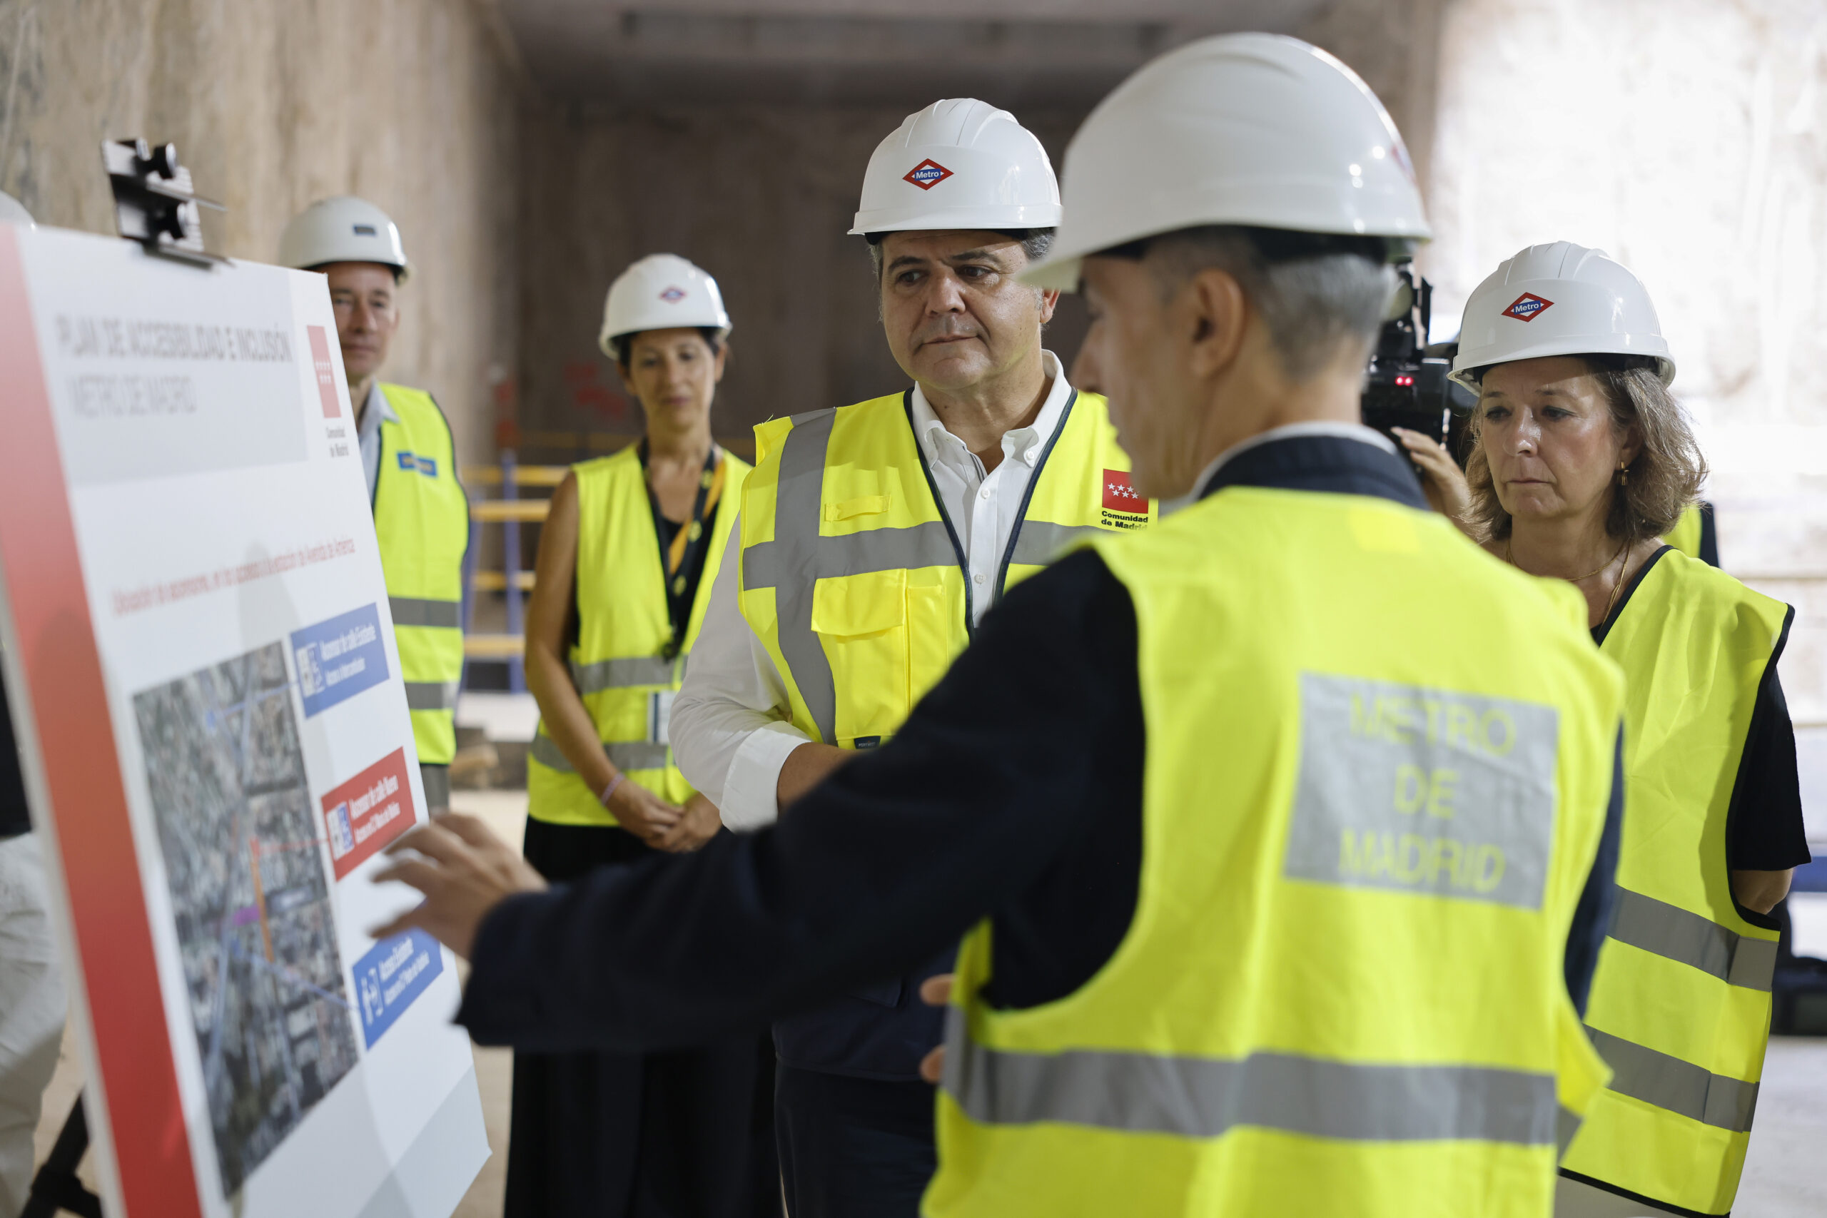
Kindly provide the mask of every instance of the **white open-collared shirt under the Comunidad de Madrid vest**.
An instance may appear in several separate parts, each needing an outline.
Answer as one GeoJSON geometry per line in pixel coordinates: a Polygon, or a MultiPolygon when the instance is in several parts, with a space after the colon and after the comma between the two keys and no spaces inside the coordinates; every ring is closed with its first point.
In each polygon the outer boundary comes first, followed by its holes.
{"type": "MultiPolygon", "coordinates": [[[[1003,435],[1003,460],[990,471],[946,431],[921,387],[914,387],[914,435],[965,550],[974,621],[983,621],[1001,595],[996,572],[1019,524],[1034,466],[1072,396],[1058,356],[1043,351],[1041,369],[1052,389],[1032,424],[1003,435]]],[[[669,738],[680,771],[716,803],[723,824],[753,829],[780,814],[780,767],[809,736],[782,718],[786,683],[736,604],[740,537],[738,519],[685,665],[685,687],[672,703],[669,738]]]]}

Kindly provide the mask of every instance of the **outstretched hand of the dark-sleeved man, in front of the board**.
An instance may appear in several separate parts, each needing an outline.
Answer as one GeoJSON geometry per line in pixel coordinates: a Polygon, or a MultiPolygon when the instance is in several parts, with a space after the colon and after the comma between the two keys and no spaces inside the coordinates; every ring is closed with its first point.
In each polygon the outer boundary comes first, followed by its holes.
{"type": "Polygon", "coordinates": [[[389,845],[387,855],[393,866],[378,871],[375,884],[400,880],[426,898],[369,935],[387,939],[418,928],[464,959],[490,909],[515,893],[546,887],[544,877],[517,849],[464,813],[444,813],[418,825],[389,845]]]}

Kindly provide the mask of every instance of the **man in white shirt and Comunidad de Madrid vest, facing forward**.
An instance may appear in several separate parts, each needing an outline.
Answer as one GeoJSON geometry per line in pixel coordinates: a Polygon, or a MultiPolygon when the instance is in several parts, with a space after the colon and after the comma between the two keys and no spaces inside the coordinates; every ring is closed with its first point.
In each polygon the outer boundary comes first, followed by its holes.
{"type": "MultiPolygon", "coordinates": [[[[1060,188],[1014,115],[952,99],[870,157],[851,232],[912,387],[756,429],[756,471],[672,714],[685,776],[734,827],[775,820],[892,738],[1010,584],[1069,539],[1142,528],[1104,402],[1041,347],[1056,292],[1016,276],[1060,188]]],[[[806,407],[818,404],[808,402],[806,407]]],[[[775,1026],[776,1130],[795,1218],[912,1214],[934,1169],[921,1055],[939,1012],[861,979],[775,1026]]]]}

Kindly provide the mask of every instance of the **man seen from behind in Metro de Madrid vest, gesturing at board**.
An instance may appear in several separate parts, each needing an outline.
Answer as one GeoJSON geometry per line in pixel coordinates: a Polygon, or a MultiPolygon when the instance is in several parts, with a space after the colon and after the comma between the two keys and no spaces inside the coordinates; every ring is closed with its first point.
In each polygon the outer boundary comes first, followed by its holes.
{"type": "Polygon", "coordinates": [[[1087,289],[1076,373],[1135,489],[1195,502],[1012,590],[776,827],[563,893],[475,822],[404,838],[402,924],[475,964],[459,1019],[740,1026],[974,926],[923,1213],[1547,1218],[1558,1114],[1602,1079],[1577,1001],[1622,688],[1577,593],[1429,513],[1357,422],[1385,263],[1425,236],[1389,115],[1317,47],[1131,77],[1027,274],[1087,289]]]}

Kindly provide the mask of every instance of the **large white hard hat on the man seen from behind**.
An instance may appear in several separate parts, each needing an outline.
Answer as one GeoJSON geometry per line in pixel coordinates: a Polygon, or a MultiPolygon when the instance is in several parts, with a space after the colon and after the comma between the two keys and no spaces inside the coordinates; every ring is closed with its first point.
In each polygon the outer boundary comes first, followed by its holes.
{"type": "Polygon", "coordinates": [[[1409,150],[1350,68],[1281,35],[1189,42],[1116,86],[1065,150],[1065,223],[1023,283],[1072,290],[1087,254],[1248,225],[1432,236],[1409,150]]]}

